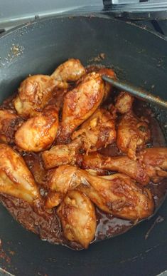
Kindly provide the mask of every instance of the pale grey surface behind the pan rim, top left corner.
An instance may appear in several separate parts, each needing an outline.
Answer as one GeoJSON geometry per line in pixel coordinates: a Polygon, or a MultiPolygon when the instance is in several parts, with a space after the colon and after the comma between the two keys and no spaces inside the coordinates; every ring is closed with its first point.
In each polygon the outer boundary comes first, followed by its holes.
{"type": "Polygon", "coordinates": [[[10,28],[34,19],[34,16],[50,16],[72,10],[99,11],[102,0],[0,0],[0,29],[10,28]]]}

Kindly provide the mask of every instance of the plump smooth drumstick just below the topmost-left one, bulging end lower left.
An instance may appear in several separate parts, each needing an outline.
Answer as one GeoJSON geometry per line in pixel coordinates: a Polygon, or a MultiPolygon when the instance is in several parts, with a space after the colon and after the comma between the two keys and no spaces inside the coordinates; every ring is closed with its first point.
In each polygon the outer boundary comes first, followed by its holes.
{"type": "Polygon", "coordinates": [[[58,110],[47,106],[42,113],[29,118],[15,134],[16,145],[26,151],[39,152],[52,145],[58,131],[58,110]]]}

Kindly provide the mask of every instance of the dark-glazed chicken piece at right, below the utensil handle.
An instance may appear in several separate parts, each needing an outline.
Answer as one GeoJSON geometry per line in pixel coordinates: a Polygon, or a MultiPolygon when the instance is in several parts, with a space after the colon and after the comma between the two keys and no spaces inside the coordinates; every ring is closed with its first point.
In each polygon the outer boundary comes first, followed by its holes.
{"type": "Polygon", "coordinates": [[[136,160],[136,149],[144,148],[150,140],[150,130],[146,119],[137,118],[132,111],[122,115],[117,129],[117,147],[131,160],[136,160]]]}

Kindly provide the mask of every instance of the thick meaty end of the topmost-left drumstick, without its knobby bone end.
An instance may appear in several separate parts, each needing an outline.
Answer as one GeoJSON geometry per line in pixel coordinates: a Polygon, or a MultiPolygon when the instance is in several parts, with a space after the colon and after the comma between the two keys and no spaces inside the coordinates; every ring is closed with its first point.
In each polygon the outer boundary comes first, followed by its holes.
{"type": "Polygon", "coordinates": [[[55,80],[50,76],[34,75],[22,81],[14,106],[18,115],[31,117],[42,111],[52,96],[55,80]]]}

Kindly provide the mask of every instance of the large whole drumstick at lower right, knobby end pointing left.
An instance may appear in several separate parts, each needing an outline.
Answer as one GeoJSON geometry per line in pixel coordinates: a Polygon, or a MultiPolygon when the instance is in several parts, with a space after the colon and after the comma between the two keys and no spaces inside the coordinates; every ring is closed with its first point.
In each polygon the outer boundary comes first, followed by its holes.
{"type": "Polygon", "coordinates": [[[100,209],[127,220],[141,220],[153,213],[151,192],[140,188],[129,176],[120,173],[99,177],[64,165],[52,171],[48,187],[56,193],[67,193],[77,188],[100,209]]]}

